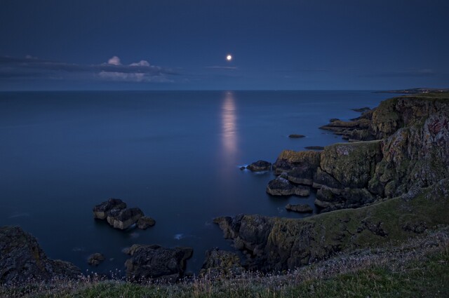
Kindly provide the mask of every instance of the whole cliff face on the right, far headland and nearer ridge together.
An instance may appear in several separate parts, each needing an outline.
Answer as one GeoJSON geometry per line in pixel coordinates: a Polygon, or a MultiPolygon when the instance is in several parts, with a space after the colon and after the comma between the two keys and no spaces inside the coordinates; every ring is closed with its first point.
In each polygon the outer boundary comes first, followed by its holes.
{"type": "Polygon", "coordinates": [[[283,151],[273,168],[290,182],[318,189],[316,205],[336,211],[307,219],[215,219],[246,252],[248,268],[294,269],[449,224],[448,93],[385,100],[354,121],[323,129],[350,142],[322,152],[283,151]]]}

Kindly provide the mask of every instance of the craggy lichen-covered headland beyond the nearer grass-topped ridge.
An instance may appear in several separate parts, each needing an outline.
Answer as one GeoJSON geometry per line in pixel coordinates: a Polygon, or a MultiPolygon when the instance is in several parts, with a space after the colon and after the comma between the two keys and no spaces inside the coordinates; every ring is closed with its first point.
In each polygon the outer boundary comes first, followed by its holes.
{"type": "Polygon", "coordinates": [[[273,165],[275,173],[313,185],[316,205],[325,211],[400,196],[414,185],[427,187],[449,177],[446,97],[396,97],[354,121],[335,120],[328,127],[336,133],[370,141],[333,144],[322,152],[283,151],[273,165]]]}

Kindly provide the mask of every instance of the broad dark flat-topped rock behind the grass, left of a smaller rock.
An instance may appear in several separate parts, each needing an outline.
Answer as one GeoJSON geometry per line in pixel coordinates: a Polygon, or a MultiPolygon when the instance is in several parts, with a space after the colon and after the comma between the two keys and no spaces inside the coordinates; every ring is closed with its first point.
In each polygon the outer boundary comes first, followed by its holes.
{"type": "Polygon", "coordinates": [[[130,280],[143,279],[175,282],[185,272],[186,260],[192,257],[192,248],[163,248],[159,245],[131,246],[126,260],[126,276],[130,280]]]}

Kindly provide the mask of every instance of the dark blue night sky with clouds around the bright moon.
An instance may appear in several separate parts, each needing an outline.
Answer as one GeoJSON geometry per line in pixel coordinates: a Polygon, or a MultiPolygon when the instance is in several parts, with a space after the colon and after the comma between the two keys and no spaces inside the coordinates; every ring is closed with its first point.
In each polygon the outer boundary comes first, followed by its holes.
{"type": "Polygon", "coordinates": [[[447,88],[448,15],[447,0],[3,0],[0,90],[447,88]]]}

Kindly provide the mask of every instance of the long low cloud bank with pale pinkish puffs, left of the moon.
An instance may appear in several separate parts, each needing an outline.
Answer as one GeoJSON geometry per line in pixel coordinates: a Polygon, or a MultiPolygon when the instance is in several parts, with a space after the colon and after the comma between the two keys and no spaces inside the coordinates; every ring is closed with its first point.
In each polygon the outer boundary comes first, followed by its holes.
{"type": "Polygon", "coordinates": [[[150,65],[147,60],[123,65],[119,57],[106,63],[81,65],[26,57],[0,56],[0,79],[76,79],[102,81],[170,82],[177,75],[172,69],[150,65]]]}

